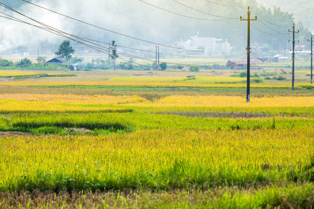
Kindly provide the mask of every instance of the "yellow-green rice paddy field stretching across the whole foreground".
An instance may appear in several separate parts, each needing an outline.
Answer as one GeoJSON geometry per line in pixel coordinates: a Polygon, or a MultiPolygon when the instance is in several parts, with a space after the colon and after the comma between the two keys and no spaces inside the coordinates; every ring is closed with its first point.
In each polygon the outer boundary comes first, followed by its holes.
{"type": "Polygon", "coordinates": [[[237,73],[0,70],[0,208],[314,208],[308,72],[237,73]]]}

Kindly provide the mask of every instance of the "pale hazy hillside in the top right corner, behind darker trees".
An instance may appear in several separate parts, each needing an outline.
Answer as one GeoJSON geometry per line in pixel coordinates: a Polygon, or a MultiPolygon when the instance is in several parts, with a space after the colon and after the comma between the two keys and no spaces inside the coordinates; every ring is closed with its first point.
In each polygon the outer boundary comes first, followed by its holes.
{"type": "Polygon", "coordinates": [[[281,10],[289,13],[294,13],[294,18],[297,21],[304,23],[314,32],[314,1],[313,0],[258,0],[264,6],[273,8],[274,6],[280,7],[281,10]]]}

